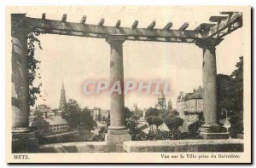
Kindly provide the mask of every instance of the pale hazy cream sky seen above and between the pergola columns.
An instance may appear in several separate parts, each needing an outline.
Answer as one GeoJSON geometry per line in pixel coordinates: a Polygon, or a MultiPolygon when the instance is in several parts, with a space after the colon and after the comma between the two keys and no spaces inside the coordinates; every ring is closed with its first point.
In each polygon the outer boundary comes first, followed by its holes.
{"type": "MultiPolygon", "coordinates": [[[[44,8],[31,10],[29,17],[41,17],[44,8]]],[[[188,29],[195,29],[200,23],[209,22],[212,15],[218,15],[218,9],[203,8],[160,8],[160,7],[93,7],[93,8],[58,8],[47,13],[48,19],[61,20],[67,13],[67,21],[79,22],[83,15],[87,16],[86,23],[97,24],[104,17],[106,26],[114,26],[116,20],[122,20],[121,26],[131,26],[134,20],[139,20],[138,27],[147,27],[156,20],[156,28],[162,28],[168,21],[173,22],[173,29],[184,22],[189,22],[188,29]]],[[[218,73],[230,74],[239,56],[243,55],[244,28],[228,35],[217,46],[218,73]]],[[[82,84],[84,81],[109,78],[109,44],[104,39],[79,38],[60,35],[41,35],[43,50],[37,49],[36,56],[42,61],[40,70],[43,83],[42,96],[37,104],[45,103],[50,107],[59,107],[61,82],[64,81],[67,100],[79,101],[81,107],[109,108],[109,96],[84,96],[82,84]]],[[[156,43],[125,41],[124,68],[125,80],[137,81],[168,80],[172,94],[170,98],[173,107],[179,91],[191,92],[202,82],[202,49],[188,43],[156,43]]],[[[38,81],[36,81],[38,83],[38,81]]],[[[137,95],[133,92],[125,96],[125,106],[154,107],[157,96],[137,95]]]]}

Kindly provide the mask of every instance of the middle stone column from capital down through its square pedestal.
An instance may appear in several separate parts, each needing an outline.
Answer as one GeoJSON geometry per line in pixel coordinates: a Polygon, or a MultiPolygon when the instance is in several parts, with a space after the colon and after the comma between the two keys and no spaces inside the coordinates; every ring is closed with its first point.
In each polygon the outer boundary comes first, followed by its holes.
{"type": "Polygon", "coordinates": [[[110,125],[105,141],[108,142],[109,152],[122,152],[123,142],[131,141],[129,130],[125,126],[125,96],[124,96],[124,66],[123,44],[125,37],[110,36],[106,39],[110,45],[110,84],[119,81],[122,94],[110,96],[110,125]]]}

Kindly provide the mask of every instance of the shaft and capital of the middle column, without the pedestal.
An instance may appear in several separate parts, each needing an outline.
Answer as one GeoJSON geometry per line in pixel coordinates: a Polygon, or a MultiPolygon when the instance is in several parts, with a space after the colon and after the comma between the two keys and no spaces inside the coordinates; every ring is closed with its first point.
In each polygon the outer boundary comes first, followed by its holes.
{"type": "Polygon", "coordinates": [[[110,84],[119,81],[122,94],[110,96],[110,130],[123,130],[125,126],[125,96],[124,96],[124,66],[123,66],[123,43],[124,37],[111,36],[106,39],[110,45],[110,84]]]}

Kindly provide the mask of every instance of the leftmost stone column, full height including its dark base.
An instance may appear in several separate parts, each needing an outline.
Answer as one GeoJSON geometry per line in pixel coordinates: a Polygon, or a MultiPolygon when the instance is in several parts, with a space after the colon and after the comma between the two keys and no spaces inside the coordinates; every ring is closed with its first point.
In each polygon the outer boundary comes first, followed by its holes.
{"type": "Polygon", "coordinates": [[[12,14],[12,152],[38,150],[38,140],[29,130],[28,57],[25,14],[12,14]]]}

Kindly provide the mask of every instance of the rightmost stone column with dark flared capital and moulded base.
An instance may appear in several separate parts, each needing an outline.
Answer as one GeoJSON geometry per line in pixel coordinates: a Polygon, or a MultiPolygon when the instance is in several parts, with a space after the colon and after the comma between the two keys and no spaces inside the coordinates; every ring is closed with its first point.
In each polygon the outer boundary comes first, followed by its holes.
{"type": "Polygon", "coordinates": [[[224,129],[217,121],[217,67],[215,46],[221,40],[203,40],[197,45],[203,49],[202,85],[203,85],[203,114],[205,124],[201,126],[201,136],[206,139],[228,138],[224,129]]]}

